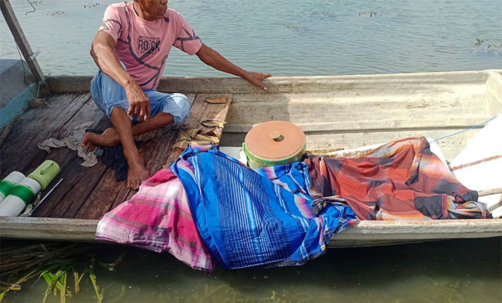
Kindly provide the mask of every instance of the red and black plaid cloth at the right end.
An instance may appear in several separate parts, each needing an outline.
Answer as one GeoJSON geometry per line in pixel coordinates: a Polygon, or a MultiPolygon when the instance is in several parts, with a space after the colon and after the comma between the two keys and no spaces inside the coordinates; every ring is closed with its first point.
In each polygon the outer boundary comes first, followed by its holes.
{"type": "Polygon", "coordinates": [[[477,192],[459,183],[425,137],[392,141],[354,159],[305,160],[310,195],[345,200],[361,220],[484,219],[477,192]]]}

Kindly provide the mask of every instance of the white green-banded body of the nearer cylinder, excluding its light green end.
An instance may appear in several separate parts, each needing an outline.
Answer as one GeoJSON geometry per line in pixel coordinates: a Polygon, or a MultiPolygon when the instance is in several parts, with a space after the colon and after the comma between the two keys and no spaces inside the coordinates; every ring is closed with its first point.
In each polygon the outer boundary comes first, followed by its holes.
{"type": "Polygon", "coordinates": [[[36,180],[28,177],[22,179],[22,181],[13,188],[11,193],[18,191],[20,193],[28,193],[28,195],[20,195],[20,197],[19,195],[9,194],[5,200],[0,203],[0,216],[18,217],[23,209],[25,209],[26,205],[33,202],[33,198],[39,193],[40,189],[41,186],[36,180]],[[27,191],[31,191],[32,194],[27,191]]]}

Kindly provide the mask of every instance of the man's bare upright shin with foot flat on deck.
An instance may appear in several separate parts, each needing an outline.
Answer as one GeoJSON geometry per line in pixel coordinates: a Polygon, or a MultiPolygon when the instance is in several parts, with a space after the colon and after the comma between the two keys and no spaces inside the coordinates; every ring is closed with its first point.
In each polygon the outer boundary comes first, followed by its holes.
{"type": "Polygon", "coordinates": [[[145,169],[145,161],[141,157],[138,148],[134,144],[131,121],[123,108],[115,107],[112,110],[113,128],[117,131],[120,143],[124,147],[124,156],[129,165],[127,173],[127,186],[129,188],[138,189],[150,173],[145,169]]]}

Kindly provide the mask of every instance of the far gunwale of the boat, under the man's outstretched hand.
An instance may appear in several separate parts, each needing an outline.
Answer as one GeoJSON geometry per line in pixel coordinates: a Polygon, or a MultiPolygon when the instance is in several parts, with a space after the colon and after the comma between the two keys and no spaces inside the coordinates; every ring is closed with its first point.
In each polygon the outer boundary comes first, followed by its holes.
{"type": "MultiPolygon", "coordinates": [[[[411,72],[376,75],[328,75],[270,77],[264,79],[267,91],[263,91],[239,77],[162,77],[158,91],[177,91],[192,94],[273,94],[298,91],[352,91],[354,89],[379,88],[389,82],[414,87],[448,84],[487,84],[490,77],[502,79],[502,69],[469,70],[453,72],[411,72]]],[[[53,93],[86,93],[90,91],[93,75],[51,75],[46,76],[53,93]]]]}

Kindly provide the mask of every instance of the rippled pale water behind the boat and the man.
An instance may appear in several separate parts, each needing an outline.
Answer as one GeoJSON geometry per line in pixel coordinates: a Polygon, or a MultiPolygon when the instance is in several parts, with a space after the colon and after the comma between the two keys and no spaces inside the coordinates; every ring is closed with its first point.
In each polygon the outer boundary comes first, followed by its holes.
{"type": "MultiPolygon", "coordinates": [[[[116,1],[11,0],[48,74],[92,75],[91,41],[116,1]]],[[[205,44],[247,70],[357,75],[502,68],[502,1],[171,0],[205,44]],[[477,44],[477,46],[475,46],[477,44]]],[[[0,58],[19,58],[0,19],[0,58]]],[[[227,76],[173,48],[164,76],[227,76]]]]}

